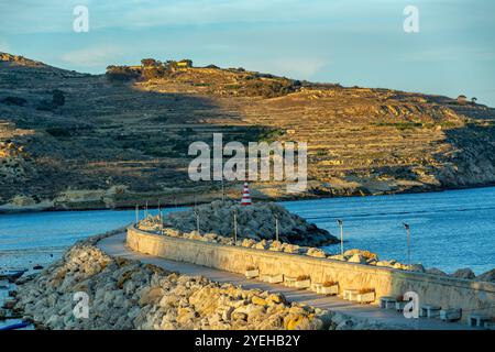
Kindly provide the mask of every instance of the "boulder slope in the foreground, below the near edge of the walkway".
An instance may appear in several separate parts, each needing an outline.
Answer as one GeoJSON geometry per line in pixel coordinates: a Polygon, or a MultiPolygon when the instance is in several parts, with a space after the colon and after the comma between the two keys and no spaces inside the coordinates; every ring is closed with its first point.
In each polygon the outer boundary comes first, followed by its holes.
{"type": "Polygon", "coordinates": [[[202,276],[167,272],[112,257],[78,243],[24,282],[14,311],[44,329],[393,329],[367,320],[288,302],[282,294],[242,289],[202,276]],[[74,294],[89,296],[88,318],[77,319],[74,294]]]}

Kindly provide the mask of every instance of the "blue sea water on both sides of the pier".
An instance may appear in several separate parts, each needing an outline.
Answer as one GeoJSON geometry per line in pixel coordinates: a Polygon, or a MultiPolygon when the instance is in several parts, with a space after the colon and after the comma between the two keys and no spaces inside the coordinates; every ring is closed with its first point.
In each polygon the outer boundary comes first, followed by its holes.
{"type": "MultiPolygon", "coordinates": [[[[413,262],[481,274],[495,267],[495,187],[381,197],[288,201],[290,211],[336,235],[344,222],[345,249],[406,262],[411,228],[413,262]]],[[[169,209],[167,211],[174,211],[169,209]]],[[[79,239],[132,222],[133,210],[0,215],[0,268],[45,265],[79,239]]],[[[329,246],[337,253],[340,246],[329,246]]]]}

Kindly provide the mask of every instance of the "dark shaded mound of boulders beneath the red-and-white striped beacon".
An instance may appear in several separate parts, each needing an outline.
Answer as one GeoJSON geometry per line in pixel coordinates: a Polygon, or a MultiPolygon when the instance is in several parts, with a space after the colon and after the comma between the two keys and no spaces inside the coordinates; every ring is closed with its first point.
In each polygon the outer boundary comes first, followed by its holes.
{"type": "Polygon", "coordinates": [[[338,243],[339,240],[327,230],[307,222],[290,213],[284,207],[273,202],[241,206],[234,201],[216,200],[194,209],[173,212],[164,222],[182,232],[197,230],[196,213],[199,217],[201,232],[215,232],[222,237],[232,237],[233,215],[237,215],[238,238],[271,240],[275,237],[275,218],[278,219],[279,240],[282,242],[321,246],[338,243]]]}

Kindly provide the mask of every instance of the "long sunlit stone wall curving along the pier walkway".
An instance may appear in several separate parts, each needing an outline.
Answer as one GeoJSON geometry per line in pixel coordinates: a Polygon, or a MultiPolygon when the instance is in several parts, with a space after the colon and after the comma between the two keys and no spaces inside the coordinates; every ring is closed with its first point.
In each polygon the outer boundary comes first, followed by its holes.
{"type": "Polygon", "coordinates": [[[338,282],[341,292],[345,288],[374,288],[377,298],[415,292],[419,295],[420,305],[462,308],[463,318],[472,311],[495,316],[493,283],[170,238],[151,234],[133,227],[128,228],[127,243],[141,253],[233,273],[244,273],[252,265],[262,275],[309,275],[314,283],[338,282]]]}

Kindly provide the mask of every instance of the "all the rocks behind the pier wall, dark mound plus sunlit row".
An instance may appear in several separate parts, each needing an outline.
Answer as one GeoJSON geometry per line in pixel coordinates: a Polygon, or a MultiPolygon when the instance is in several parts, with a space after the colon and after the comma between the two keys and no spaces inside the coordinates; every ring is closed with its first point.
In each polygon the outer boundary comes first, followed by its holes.
{"type": "Polygon", "coordinates": [[[239,202],[222,202],[217,200],[211,204],[195,207],[194,209],[169,213],[164,219],[161,219],[160,216],[148,216],[138,227],[143,231],[174,238],[302,254],[355,264],[480,282],[495,282],[495,270],[479,276],[475,276],[474,272],[469,267],[460,268],[452,274],[447,274],[436,267],[425,268],[421,264],[408,265],[399,263],[396,260],[380,260],[376,253],[359,249],[348,250],[343,255],[328,254],[318,246],[338,243],[339,240],[336,237],[273,202],[257,202],[252,206],[241,206],[239,202]],[[233,240],[233,212],[237,213],[238,219],[237,242],[233,240]],[[200,232],[197,231],[196,215],[199,216],[200,232]],[[278,218],[279,241],[274,240],[275,217],[278,218]]]}

